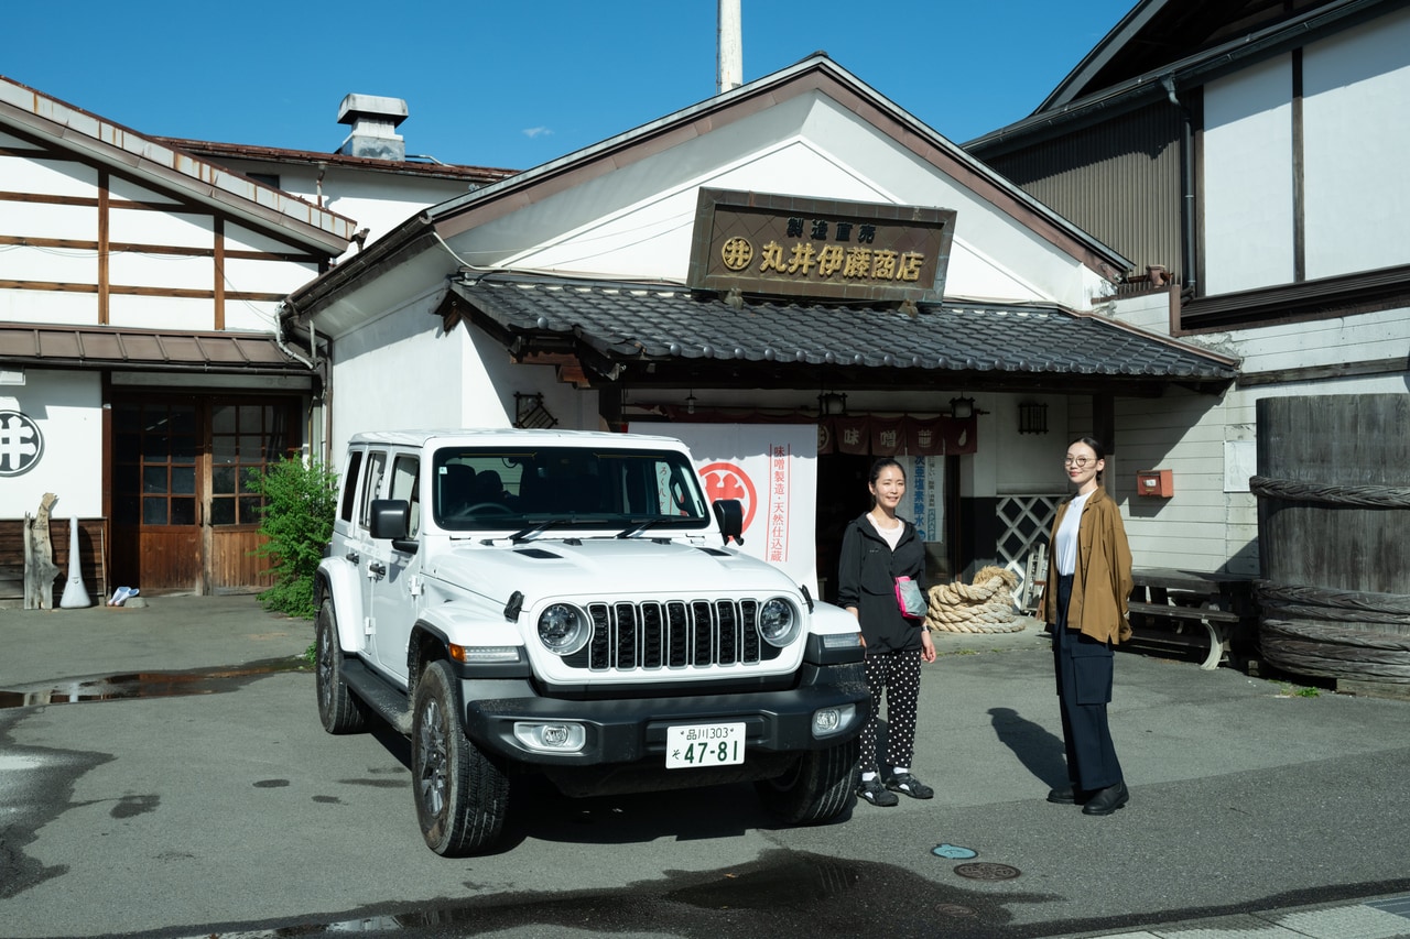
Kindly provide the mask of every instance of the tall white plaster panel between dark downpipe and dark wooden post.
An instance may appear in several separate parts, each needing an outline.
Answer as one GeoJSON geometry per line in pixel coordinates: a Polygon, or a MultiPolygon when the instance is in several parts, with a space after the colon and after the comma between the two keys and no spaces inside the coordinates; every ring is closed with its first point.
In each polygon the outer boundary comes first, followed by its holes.
{"type": "Polygon", "coordinates": [[[1204,289],[1293,279],[1292,65],[1287,55],[1204,86],[1204,289]]]}

